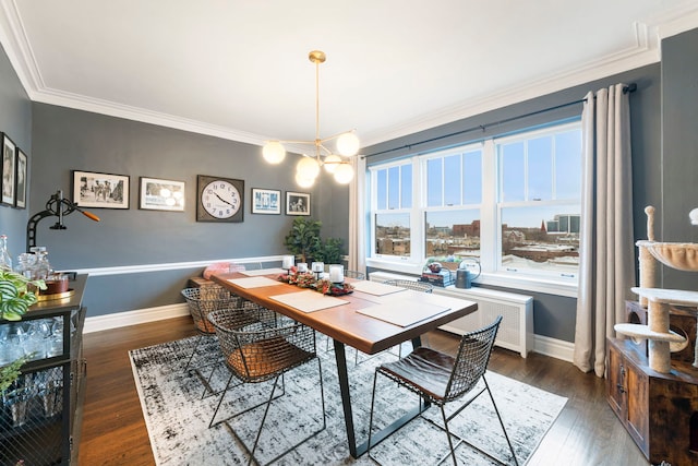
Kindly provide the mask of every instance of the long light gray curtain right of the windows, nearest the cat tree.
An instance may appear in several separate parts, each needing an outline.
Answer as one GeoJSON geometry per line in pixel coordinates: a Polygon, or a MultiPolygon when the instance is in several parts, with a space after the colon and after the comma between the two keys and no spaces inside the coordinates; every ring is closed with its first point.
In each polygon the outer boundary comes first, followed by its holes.
{"type": "Polygon", "coordinates": [[[587,95],[582,111],[579,292],[574,363],[605,372],[606,337],[635,286],[630,111],[623,84],[587,95]]]}

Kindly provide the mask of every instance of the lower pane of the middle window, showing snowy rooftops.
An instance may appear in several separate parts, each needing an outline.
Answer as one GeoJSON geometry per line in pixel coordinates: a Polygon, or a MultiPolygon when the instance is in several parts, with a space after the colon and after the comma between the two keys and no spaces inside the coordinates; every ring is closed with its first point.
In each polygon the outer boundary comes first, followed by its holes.
{"type": "Polygon", "coordinates": [[[480,258],[480,210],[426,212],[426,256],[480,258]]]}

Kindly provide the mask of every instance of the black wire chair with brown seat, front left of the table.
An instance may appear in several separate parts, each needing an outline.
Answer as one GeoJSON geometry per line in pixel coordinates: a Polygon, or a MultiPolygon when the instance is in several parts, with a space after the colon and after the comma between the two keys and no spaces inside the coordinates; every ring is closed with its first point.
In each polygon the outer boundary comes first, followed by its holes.
{"type": "MultiPolygon", "coordinates": [[[[252,409],[265,406],[262,421],[260,422],[260,427],[256,431],[254,445],[251,450],[240,435],[238,435],[231,423],[228,423],[230,432],[232,432],[237,441],[244,446],[249,454],[248,464],[251,464],[253,459],[256,464],[260,464],[254,454],[257,449],[260,437],[262,434],[269,407],[272,406],[272,402],[278,399],[279,396],[286,392],[284,374],[291,369],[298,368],[313,360],[317,361],[317,372],[320,377],[320,403],[322,405],[323,416],[322,427],[304,440],[298,442],[290,449],[285,450],[268,463],[276,462],[325,429],[327,422],[325,415],[323,373],[322,365],[316,354],[315,331],[313,328],[288,318],[250,324],[241,322],[239,314],[226,311],[214,311],[209,313],[208,321],[216,330],[225,366],[230,371],[230,377],[226,383],[226,387],[220,393],[220,398],[218,399],[218,404],[210,418],[208,427],[218,426],[252,409]],[[274,395],[279,385],[279,379],[281,382],[280,385],[282,393],[275,397],[274,395]],[[237,383],[232,383],[233,380],[236,380],[237,383]],[[273,381],[273,383],[268,398],[265,402],[252,407],[242,408],[240,411],[227,417],[226,419],[216,421],[216,416],[218,415],[226,393],[229,390],[245,383],[261,383],[266,381],[273,381]]],[[[303,396],[308,396],[308,394],[303,393],[303,396]]],[[[292,399],[286,399],[286,403],[292,403],[292,399]]]]}

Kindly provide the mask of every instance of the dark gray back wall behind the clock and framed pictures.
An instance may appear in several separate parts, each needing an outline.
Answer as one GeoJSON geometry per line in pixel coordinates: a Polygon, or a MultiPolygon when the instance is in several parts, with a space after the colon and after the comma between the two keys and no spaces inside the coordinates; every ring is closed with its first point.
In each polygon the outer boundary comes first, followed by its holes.
{"type": "MultiPolygon", "coordinates": [[[[71,170],[131,177],[129,210],[88,208],[99,223],[73,213],[65,217],[67,230],[49,228],[55,217],[39,224],[37,243],[48,248],[56,268],[214,262],[287,252],[284,237],[294,217],[252,214],[250,190],[305,192],[292,178],[298,156],[289,154],[281,166],[269,166],[258,146],[46,104],[35,103],[33,110],[33,211],[43,210],[58,189],[72,198],[71,170]],[[196,222],[196,175],[244,180],[244,222],[196,222]],[[185,212],[139,210],[139,177],[184,181],[185,212]]],[[[337,202],[333,182],[323,179],[318,184],[311,192],[311,210],[315,218],[327,216],[323,236],[341,231],[346,237],[347,217],[335,218],[337,212],[328,208],[337,202]],[[336,220],[344,223],[337,227],[336,220]]],[[[87,315],[178,302],[186,278],[201,270],[91,277],[87,315]]]]}

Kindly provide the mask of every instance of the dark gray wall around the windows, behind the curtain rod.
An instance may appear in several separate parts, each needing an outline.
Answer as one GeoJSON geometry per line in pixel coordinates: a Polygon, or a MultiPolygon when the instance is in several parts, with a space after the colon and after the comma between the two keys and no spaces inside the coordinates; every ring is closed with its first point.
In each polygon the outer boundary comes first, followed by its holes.
{"type": "MultiPolygon", "coordinates": [[[[508,121],[519,116],[534,113],[543,109],[579,100],[583,98],[589,91],[597,91],[617,83],[636,83],[637,92],[630,96],[633,177],[635,180],[633,194],[636,235],[639,234],[639,237],[643,238],[646,227],[643,208],[648,204],[654,203],[657,205],[657,202],[661,199],[661,183],[652,176],[653,172],[657,172],[661,164],[659,157],[661,148],[659,112],[661,97],[660,74],[659,63],[643,67],[509,107],[500,108],[418,134],[388,141],[368,147],[364,153],[369,155],[375,154],[369,157],[368,160],[369,164],[375,164],[394,157],[429,152],[466,142],[480,141],[522,128],[550,123],[551,121],[578,118],[581,115],[581,104],[565,106],[556,110],[544,111],[534,116],[516,119],[515,121],[508,121]],[[485,129],[480,129],[480,126],[484,126],[485,129]],[[478,129],[455,134],[471,128],[478,129]],[[444,135],[449,136],[443,138],[444,135]],[[428,142],[421,143],[423,141],[428,142]]],[[[516,289],[497,289],[517,292],[516,289]]],[[[526,291],[526,294],[533,296],[534,333],[565,342],[574,342],[577,300],[575,298],[540,292],[526,291]]]]}

